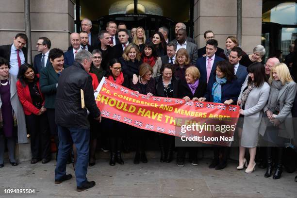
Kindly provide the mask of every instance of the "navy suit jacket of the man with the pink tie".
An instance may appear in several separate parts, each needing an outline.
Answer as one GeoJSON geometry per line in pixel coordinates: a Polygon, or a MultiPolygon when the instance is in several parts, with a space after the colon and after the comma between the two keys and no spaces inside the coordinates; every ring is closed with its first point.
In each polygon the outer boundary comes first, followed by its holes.
{"type": "MultiPolygon", "coordinates": [[[[216,62],[218,61],[224,61],[225,59],[222,59],[221,57],[215,55],[214,56],[214,65],[212,67],[212,71],[211,71],[211,75],[209,78],[213,77],[213,73],[215,72],[215,68],[216,68],[216,62]]],[[[206,56],[199,58],[196,62],[196,66],[199,69],[200,72],[200,79],[199,81],[201,82],[207,82],[207,72],[206,72],[206,56]]]]}

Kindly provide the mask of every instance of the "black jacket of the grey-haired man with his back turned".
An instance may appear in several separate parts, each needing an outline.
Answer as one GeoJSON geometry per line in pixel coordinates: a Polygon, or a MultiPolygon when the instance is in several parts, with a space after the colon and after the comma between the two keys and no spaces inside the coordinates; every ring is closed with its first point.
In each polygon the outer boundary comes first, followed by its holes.
{"type": "Polygon", "coordinates": [[[92,117],[98,117],[100,111],[96,105],[92,77],[83,66],[74,62],[63,70],[59,77],[55,104],[55,121],[57,125],[67,128],[89,129],[87,110],[82,109],[81,89],[84,104],[92,117]]]}

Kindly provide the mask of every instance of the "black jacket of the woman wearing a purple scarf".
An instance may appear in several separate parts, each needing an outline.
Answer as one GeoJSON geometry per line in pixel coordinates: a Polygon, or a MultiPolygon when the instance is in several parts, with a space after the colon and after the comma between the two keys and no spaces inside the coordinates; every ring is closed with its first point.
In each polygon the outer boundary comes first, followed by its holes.
{"type": "Polygon", "coordinates": [[[206,82],[200,82],[198,83],[198,87],[195,90],[194,95],[192,94],[192,91],[185,81],[180,81],[179,83],[179,98],[182,99],[185,96],[188,96],[190,99],[193,98],[201,98],[206,93],[207,83],[206,82]]]}

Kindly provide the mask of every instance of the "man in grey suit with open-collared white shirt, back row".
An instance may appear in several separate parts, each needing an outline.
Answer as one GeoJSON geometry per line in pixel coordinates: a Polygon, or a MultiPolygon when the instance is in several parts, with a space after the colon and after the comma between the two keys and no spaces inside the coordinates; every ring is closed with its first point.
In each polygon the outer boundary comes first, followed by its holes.
{"type": "Polygon", "coordinates": [[[198,58],[198,54],[197,54],[197,45],[195,43],[191,43],[188,42],[186,40],[187,37],[187,32],[185,29],[179,29],[176,33],[176,40],[177,40],[177,51],[181,48],[184,48],[187,50],[188,55],[190,57],[191,60],[191,64],[195,65],[197,58],[198,58]]]}

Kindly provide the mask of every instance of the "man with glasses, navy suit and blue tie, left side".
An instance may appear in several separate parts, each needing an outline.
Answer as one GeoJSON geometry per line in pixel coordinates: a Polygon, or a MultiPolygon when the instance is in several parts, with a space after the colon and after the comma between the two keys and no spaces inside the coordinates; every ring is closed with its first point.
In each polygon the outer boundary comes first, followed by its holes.
{"type": "Polygon", "coordinates": [[[35,69],[35,72],[39,74],[40,70],[46,66],[49,66],[49,49],[50,49],[51,43],[49,38],[47,37],[40,37],[37,41],[36,48],[37,51],[40,53],[35,55],[33,66],[35,69]]]}

